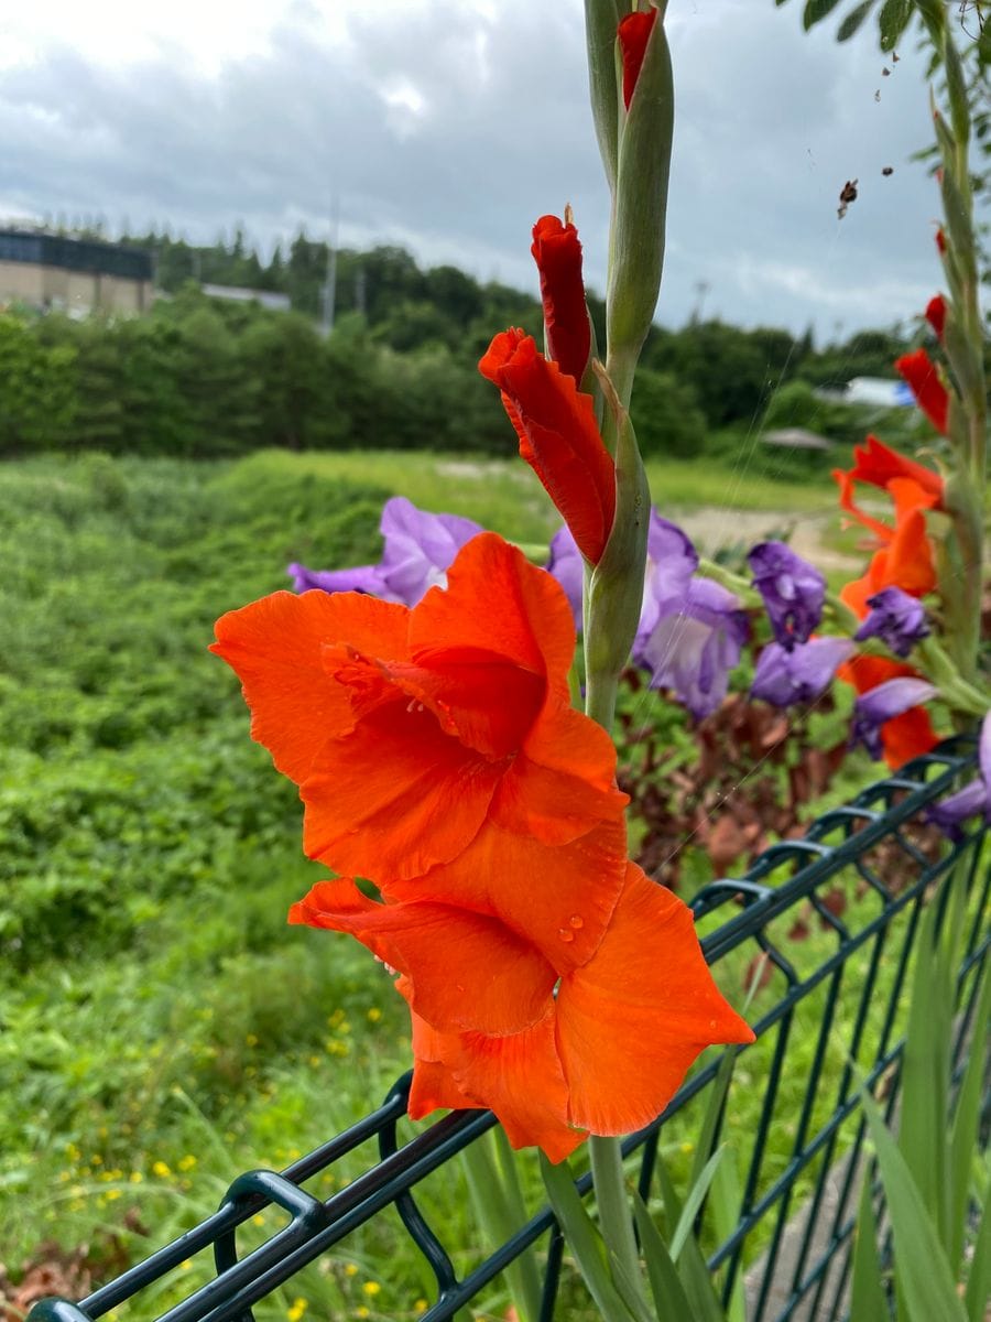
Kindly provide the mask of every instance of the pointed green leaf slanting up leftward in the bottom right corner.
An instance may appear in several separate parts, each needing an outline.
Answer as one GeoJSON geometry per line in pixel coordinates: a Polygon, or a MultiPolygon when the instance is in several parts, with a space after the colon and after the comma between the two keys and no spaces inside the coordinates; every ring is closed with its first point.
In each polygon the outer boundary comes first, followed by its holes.
{"type": "Polygon", "coordinates": [[[895,1268],[909,1322],[966,1322],[939,1235],[905,1158],[867,1093],[863,1107],[881,1169],[895,1233],[895,1268]]]}

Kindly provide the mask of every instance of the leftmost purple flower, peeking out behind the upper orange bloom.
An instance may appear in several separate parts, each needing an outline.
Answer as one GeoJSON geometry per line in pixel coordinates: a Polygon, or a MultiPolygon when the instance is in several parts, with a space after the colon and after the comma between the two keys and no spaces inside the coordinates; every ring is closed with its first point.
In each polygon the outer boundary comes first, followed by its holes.
{"type": "Polygon", "coordinates": [[[369,592],[386,602],[416,605],[435,586],[447,583],[447,571],[465,545],[482,531],[480,524],[459,514],[431,514],[404,496],[392,496],[382,509],[379,531],[385,539],[378,564],[351,570],[288,568],[297,592],[369,592]]]}

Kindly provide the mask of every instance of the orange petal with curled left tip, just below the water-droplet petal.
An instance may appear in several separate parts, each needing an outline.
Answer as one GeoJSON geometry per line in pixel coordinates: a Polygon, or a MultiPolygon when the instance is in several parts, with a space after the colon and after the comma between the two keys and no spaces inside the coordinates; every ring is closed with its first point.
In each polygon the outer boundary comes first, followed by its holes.
{"type": "Polygon", "coordinates": [[[342,878],[317,882],[289,921],[357,937],[406,974],[411,1009],[441,1031],[514,1034],[552,1003],[555,970],[498,919],[451,904],[378,904],[342,878]]]}

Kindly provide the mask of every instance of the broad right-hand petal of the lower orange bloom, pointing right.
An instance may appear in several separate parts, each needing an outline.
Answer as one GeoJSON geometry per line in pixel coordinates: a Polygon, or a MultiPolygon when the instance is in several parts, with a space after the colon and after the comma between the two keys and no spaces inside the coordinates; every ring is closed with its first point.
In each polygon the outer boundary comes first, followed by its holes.
{"type": "Polygon", "coordinates": [[[706,1046],[753,1042],[712,981],[691,911],[636,863],[599,951],[562,980],[556,1010],[568,1114],[596,1134],[659,1116],[706,1046]]]}

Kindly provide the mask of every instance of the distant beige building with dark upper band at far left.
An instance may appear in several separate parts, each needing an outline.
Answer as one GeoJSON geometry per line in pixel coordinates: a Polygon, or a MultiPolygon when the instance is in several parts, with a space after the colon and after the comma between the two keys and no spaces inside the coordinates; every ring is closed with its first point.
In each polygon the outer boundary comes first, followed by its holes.
{"type": "Polygon", "coordinates": [[[45,230],[0,229],[0,305],[9,303],[77,316],[147,312],[151,253],[45,230]]]}

